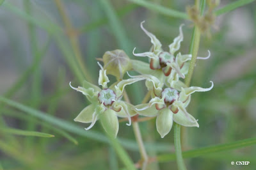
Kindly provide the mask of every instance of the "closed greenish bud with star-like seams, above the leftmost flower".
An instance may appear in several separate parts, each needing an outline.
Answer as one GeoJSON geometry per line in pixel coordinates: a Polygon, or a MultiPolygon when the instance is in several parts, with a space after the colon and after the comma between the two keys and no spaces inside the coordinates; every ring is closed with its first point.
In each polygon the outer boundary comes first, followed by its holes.
{"type": "Polygon", "coordinates": [[[102,58],[107,74],[114,75],[117,80],[122,80],[124,73],[132,70],[131,59],[124,50],[107,51],[102,58]]]}

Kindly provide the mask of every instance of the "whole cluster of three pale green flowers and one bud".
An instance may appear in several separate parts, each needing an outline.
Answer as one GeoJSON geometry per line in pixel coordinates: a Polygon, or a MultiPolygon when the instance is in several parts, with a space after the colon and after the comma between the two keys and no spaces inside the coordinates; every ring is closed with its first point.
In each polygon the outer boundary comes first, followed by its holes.
{"type": "MultiPolygon", "coordinates": [[[[131,117],[139,114],[141,116],[153,117],[156,116],[157,132],[164,137],[172,129],[173,121],[186,127],[199,127],[197,120],[186,111],[191,100],[191,94],[195,91],[209,91],[213,88],[211,82],[210,88],[200,87],[186,87],[180,78],[184,79],[188,73],[189,61],[191,54],[182,55],[180,52],[175,53],[180,49],[180,43],[183,41],[182,26],[179,27],[179,36],[177,36],[173,43],[169,45],[169,51],[162,49],[161,42],[155,35],[148,32],[143,27],[141,22],[141,29],[150,37],[153,46],[148,52],[135,53],[134,56],[148,57],[149,64],[129,59],[123,50],[108,51],[104,54],[102,67],[99,62],[99,85],[91,84],[84,81],[83,87],[74,88],[83,93],[92,103],[85,107],[75,121],[82,123],[91,123],[86,130],[93,127],[97,120],[102,120],[102,126],[108,134],[116,137],[118,133],[118,118],[127,118],[131,125],[131,117]],[[135,70],[140,75],[129,75],[129,70],[135,70]],[[127,72],[131,79],[123,79],[124,73],[127,72]],[[117,82],[113,83],[108,88],[108,74],[115,75],[117,82]],[[145,85],[151,93],[151,100],[148,104],[132,105],[128,102],[122,101],[124,88],[128,84],[146,80],[145,85]]],[[[208,51],[209,52],[209,51],[208,51]]],[[[207,59],[206,58],[198,59],[207,59]]]]}

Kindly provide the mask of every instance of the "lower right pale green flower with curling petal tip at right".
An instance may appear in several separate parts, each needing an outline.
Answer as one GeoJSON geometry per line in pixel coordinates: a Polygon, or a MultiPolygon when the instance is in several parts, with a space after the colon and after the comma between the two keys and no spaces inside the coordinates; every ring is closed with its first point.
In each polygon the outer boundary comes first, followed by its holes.
{"type": "Polygon", "coordinates": [[[157,132],[163,138],[172,129],[173,121],[183,125],[185,127],[199,127],[197,121],[191,114],[186,111],[191,94],[195,91],[209,91],[213,88],[200,88],[200,87],[189,87],[184,88],[183,84],[180,86],[180,91],[174,88],[161,88],[159,80],[156,77],[148,75],[136,75],[132,76],[134,78],[144,77],[148,81],[154,84],[154,98],[148,102],[148,104],[140,104],[134,106],[134,111],[142,116],[154,117],[156,118],[156,128],[157,132]],[[160,86],[159,86],[160,85],[160,86]]]}

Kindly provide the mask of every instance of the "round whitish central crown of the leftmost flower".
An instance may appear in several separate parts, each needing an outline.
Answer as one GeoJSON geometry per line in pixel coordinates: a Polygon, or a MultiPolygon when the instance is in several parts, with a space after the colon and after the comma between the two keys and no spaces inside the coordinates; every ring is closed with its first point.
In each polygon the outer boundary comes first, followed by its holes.
{"type": "Polygon", "coordinates": [[[98,94],[98,100],[105,106],[112,105],[116,100],[116,93],[112,89],[102,89],[98,94]]]}

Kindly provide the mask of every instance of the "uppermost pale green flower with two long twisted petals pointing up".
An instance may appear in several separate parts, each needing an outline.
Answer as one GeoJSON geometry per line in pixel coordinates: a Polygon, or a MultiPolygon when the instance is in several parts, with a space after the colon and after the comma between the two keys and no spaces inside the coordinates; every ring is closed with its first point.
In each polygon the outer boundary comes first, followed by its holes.
{"type": "MultiPolygon", "coordinates": [[[[132,68],[141,74],[149,74],[157,77],[161,82],[164,82],[166,85],[173,87],[175,83],[179,81],[179,77],[182,79],[185,78],[185,75],[188,73],[189,63],[186,61],[191,60],[191,54],[182,55],[180,52],[176,54],[177,50],[180,49],[180,43],[183,41],[183,33],[182,33],[182,24],[179,27],[179,36],[177,36],[173,43],[169,45],[169,51],[166,52],[162,49],[161,42],[156,38],[155,35],[148,32],[141,22],[141,29],[150,37],[151,43],[153,46],[151,47],[149,52],[143,53],[134,53],[134,56],[139,57],[148,57],[150,59],[150,64],[145,63],[143,61],[132,60],[132,68]]],[[[208,50],[209,55],[207,58],[197,59],[208,59],[211,56],[210,51],[208,50]]]]}

